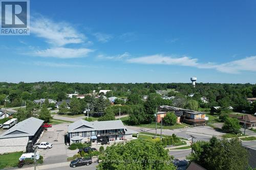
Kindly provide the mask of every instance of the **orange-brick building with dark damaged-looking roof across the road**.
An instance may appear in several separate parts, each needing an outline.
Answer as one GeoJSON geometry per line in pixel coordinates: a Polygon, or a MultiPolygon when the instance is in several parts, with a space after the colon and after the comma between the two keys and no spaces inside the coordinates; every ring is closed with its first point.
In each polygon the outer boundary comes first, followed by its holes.
{"type": "MultiPolygon", "coordinates": [[[[205,116],[205,113],[194,111],[194,110],[188,110],[188,109],[182,109],[178,107],[173,106],[160,106],[158,108],[159,112],[174,112],[175,115],[178,117],[177,122],[179,123],[186,123],[193,126],[201,126],[206,125],[208,122],[208,117],[205,116]]],[[[160,113],[164,114],[164,113],[160,113]]],[[[164,117],[165,115],[162,115],[161,117],[164,117]]],[[[158,118],[158,117],[157,117],[158,118]]],[[[158,120],[159,121],[159,120],[158,120]]]]}

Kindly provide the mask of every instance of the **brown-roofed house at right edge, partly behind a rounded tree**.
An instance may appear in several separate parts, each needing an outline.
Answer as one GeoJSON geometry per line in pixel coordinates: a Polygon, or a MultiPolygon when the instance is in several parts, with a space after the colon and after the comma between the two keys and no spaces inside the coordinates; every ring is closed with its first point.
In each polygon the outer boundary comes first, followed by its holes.
{"type": "Polygon", "coordinates": [[[253,116],[251,114],[229,114],[229,117],[237,118],[239,120],[239,123],[243,126],[245,125],[246,128],[256,129],[256,116],[253,116]]]}

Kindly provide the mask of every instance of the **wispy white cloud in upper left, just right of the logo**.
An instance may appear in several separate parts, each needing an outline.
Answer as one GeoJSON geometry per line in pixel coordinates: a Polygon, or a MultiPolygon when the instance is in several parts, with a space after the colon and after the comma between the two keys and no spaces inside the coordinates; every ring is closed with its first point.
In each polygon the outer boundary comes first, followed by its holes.
{"type": "Polygon", "coordinates": [[[78,33],[67,22],[56,22],[45,17],[33,17],[31,21],[31,33],[42,37],[54,46],[63,46],[71,43],[82,43],[86,36],[78,33]]]}

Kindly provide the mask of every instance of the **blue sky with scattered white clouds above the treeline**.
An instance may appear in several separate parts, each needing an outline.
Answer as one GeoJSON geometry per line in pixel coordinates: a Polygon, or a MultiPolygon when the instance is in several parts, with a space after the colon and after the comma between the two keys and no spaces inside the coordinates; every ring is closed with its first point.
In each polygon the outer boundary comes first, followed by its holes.
{"type": "Polygon", "coordinates": [[[0,82],[256,83],[256,1],[30,0],[0,82]]]}

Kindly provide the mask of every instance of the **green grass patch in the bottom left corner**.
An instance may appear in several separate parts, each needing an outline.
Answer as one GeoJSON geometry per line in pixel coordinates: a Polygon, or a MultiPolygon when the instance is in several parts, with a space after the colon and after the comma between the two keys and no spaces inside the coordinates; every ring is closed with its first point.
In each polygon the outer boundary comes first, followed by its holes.
{"type": "Polygon", "coordinates": [[[13,152],[0,155],[0,169],[17,166],[18,158],[22,156],[23,152],[13,152]]]}

